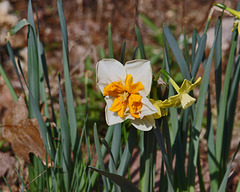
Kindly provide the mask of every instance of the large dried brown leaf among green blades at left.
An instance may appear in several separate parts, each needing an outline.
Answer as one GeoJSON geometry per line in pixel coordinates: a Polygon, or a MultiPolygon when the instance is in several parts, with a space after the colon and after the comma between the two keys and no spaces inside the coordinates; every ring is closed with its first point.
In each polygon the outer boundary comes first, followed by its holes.
{"type": "Polygon", "coordinates": [[[45,159],[46,150],[37,119],[28,119],[28,109],[21,95],[5,119],[3,137],[11,143],[14,153],[30,162],[29,153],[45,159]]]}

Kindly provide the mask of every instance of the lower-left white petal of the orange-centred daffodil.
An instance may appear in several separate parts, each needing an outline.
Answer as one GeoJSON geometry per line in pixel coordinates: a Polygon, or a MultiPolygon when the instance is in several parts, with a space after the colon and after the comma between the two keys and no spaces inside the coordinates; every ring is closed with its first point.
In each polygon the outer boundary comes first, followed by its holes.
{"type": "Polygon", "coordinates": [[[114,125],[117,123],[121,123],[125,120],[125,118],[121,118],[117,112],[112,112],[109,110],[113,103],[114,98],[113,97],[105,97],[106,101],[106,107],[105,107],[105,117],[106,117],[106,122],[108,125],[114,125]]]}

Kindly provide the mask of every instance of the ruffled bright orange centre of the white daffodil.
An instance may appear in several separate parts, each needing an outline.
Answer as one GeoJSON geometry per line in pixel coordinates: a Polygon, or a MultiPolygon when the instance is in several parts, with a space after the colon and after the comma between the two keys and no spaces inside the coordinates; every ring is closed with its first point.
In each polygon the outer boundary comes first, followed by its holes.
{"type": "Polygon", "coordinates": [[[132,75],[128,74],[125,85],[121,81],[114,81],[104,87],[103,96],[115,97],[110,111],[118,112],[120,117],[124,117],[128,112],[134,117],[139,118],[142,108],[142,96],[139,91],[144,89],[141,82],[133,83],[132,75]]]}

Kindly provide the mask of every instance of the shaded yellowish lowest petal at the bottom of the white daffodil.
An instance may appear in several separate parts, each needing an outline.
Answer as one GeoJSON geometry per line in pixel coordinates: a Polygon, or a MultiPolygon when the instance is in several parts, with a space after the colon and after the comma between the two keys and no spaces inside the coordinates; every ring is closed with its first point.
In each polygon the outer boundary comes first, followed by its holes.
{"type": "Polygon", "coordinates": [[[155,127],[155,120],[152,115],[145,116],[143,119],[130,120],[132,125],[141,131],[150,131],[155,127]]]}

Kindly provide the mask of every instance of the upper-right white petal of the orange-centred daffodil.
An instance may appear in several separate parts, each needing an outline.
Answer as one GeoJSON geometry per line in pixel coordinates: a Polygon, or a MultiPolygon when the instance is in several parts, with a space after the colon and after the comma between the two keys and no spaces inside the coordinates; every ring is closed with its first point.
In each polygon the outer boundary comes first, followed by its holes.
{"type": "Polygon", "coordinates": [[[152,85],[152,68],[150,61],[138,59],[128,61],[125,64],[125,70],[127,74],[131,74],[133,77],[133,83],[141,82],[144,86],[144,94],[149,95],[152,85]]]}

